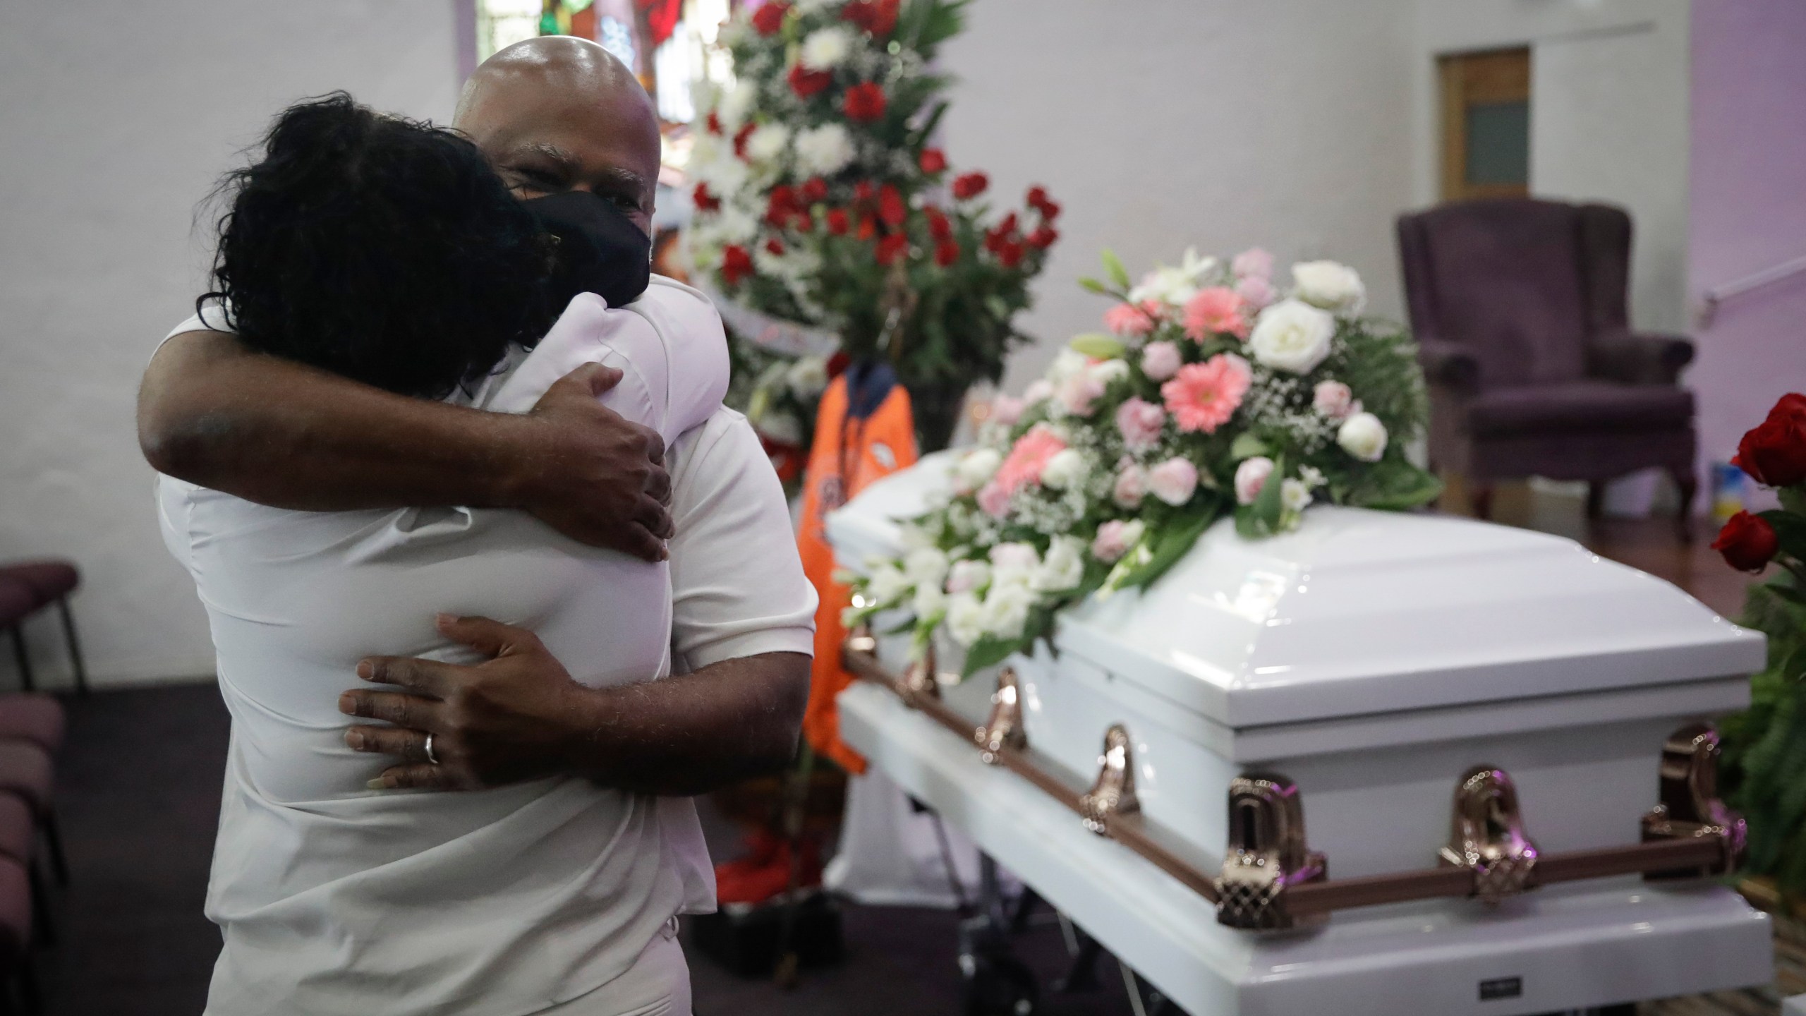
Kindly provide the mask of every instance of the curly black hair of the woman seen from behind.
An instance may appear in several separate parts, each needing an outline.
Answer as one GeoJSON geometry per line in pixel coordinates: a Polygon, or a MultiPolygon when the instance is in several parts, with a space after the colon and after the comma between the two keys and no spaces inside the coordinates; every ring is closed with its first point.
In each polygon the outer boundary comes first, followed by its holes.
{"type": "Polygon", "coordinates": [[[549,239],[466,137],[345,92],[296,103],[226,175],[213,291],[238,338],[444,398],[554,318],[549,239]]]}

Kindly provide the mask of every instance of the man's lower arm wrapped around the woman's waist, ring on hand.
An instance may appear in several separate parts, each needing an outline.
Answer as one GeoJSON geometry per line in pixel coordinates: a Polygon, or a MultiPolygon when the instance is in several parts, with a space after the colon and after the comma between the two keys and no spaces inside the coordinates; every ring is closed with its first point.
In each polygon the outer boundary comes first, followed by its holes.
{"type": "Polygon", "coordinates": [[[405,692],[349,691],[340,709],[394,727],[352,727],[361,752],[397,756],[372,788],[468,790],[585,776],[638,794],[706,794],[775,772],[796,750],[809,656],[762,653],[694,674],[591,689],[526,629],[441,618],[439,631],[491,660],[475,667],[377,656],[358,676],[405,692]],[[433,756],[426,759],[426,734],[433,756]]]}

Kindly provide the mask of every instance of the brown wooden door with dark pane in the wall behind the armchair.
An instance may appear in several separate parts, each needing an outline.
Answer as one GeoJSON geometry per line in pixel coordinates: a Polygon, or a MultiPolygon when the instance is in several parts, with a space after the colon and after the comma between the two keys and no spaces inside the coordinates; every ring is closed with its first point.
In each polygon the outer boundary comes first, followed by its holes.
{"type": "Polygon", "coordinates": [[[1438,58],[1443,201],[1530,195],[1530,49],[1438,58]]]}

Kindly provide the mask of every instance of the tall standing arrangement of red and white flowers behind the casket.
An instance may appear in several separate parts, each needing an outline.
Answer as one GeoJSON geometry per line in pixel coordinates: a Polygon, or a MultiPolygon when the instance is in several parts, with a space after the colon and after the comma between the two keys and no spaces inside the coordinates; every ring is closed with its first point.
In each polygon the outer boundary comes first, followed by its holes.
{"type": "MultiPolygon", "coordinates": [[[[945,416],[930,447],[945,445],[957,394],[1002,374],[1028,282],[1058,239],[1044,188],[993,206],[982,172],[955,174],[928,143],[948,85],[932,60],[963,4],[796,0],[735,14],[721,36],[735,85],[703,98],[690,155],[694,268],[730,300],[833,333],[851,360],[889,360],[921,409],[945,416]]],[[[748,358],[789,385],[769,354],[748,358]]]]}

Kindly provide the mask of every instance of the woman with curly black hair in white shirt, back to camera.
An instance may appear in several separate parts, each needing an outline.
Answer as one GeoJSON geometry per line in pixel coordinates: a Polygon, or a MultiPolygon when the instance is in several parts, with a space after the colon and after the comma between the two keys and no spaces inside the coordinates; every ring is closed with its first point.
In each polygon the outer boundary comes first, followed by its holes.
{"type": "MultiPolygon", "coordinates": [[[[177,333],[229,329],[497,412],[601,363],[621,371],[601,401],[666,443],[721,407],[721,318],[694,289],[648,286],[645,231],[594,193],[517,201],[464,137],[343,94],[285,110],[228,192],[215,293],[177,333]]],[[[164,475],[159,512],[233,716],[209,1014],[688,1012],[665,929],[699,877],[659,799],[544,770],[470,794],[388,790],[390,759],[354,750],[338,707],[372,653],[468,658],[437,611],[529,629],[569,671],[563,701],[657,680],[665,562],[513,510],[291,512],[164,475]]],[[[424,736],[408,761],[470,752],[424,736]]]]}

